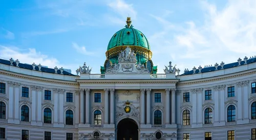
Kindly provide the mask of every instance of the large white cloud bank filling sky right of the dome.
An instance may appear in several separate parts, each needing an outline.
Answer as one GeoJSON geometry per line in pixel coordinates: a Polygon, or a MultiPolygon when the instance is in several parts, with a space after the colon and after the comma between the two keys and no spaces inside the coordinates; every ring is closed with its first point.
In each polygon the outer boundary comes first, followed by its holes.
{"type": "Polygon", "coordinates": [[[228,64],[237,62],[239,57],[255,55],[256,1],[229,1],[222,10],[205,1],[201,4],[205,20],[200,26],[194,21],[184,21],[188,26],[182,26],[163,16],[151,15],[163,27],[162,31],[149,37],[153,49],[162,48],[161,53],[153,55],[153,60],[161,62],[159,73],[168,61],[177,64],[183,73],[185,68],[191,70],[194,66],[222,61],[228,64]],[[162,55],[166,55],[167,60],[163,60],[162,55]]]}

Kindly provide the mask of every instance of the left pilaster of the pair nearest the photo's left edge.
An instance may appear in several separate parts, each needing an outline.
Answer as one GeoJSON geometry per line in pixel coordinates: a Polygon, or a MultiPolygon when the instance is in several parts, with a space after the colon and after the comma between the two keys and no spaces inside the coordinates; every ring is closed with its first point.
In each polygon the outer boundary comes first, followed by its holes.
{"type": "Polygon", "coordinates": [[[8,123],[12,123],[13,122],[13,118],[14,118],[14,107],[13,107],[13,104],[14,104],[14,101],[13,101],[13,86],[14,86],[14,82],[11,82],[11,81],[8,81],[8,86],[9,86],[9,110],[8,110],[8,123]]]}

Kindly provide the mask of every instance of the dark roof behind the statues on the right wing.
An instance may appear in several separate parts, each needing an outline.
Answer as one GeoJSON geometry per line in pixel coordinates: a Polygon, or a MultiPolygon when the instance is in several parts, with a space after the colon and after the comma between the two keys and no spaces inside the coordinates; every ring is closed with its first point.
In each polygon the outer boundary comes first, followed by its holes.
{"type": "MultiPolygon", "coordinates": [[[[247,63],[247,64],[250,64],[250,63],[255,63],[255,62],[256,62],[256,58],[254,57],[254,58],[248,59],[246,63],[247,63]]],[[[245,62],[242,61],[242,62],[241,62],[241,66],[243,66],[244,63],[245,63],[245,62]]],[[[238,66],[238,62],[230,63],[230,64],[225,64],[225,65],[223,66],[223,69],[229,69],[229,68],[233,68],[233,67],[239,67],[239,66],[238,66]]],[[[221,66],[220,66],[220,64],[219,64],[218,70],[220,70],[220,69],[221,69],[221,66]]],[[[211,71],[215,71],[215,66],[202,68],[202,70],[201,70],[202,73],[204,73],[204,72],[211,72],[211,71]]],[[[196,70],[196,73],[198,73],[198,72],[199,72],[199,70],[197,69],[197,70],[196,70]]],[[[194,71],[193,71],[193,70],[190,70],[190,71],[187,71],[187,72],[185,72],[185,73],[183,73],[183,74],[181,74],[181,75],[190,75],[190,74],[193,74],[193,73],[194,73],[194,71]]]]}

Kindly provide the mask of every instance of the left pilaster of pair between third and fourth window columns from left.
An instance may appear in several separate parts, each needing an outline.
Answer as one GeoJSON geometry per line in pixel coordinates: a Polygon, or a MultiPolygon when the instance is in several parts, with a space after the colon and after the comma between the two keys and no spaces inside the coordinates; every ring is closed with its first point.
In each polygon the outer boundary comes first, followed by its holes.
{"type": "MultiPolygon", "coordinates": [[[[54,124],[58,124],[59,123],[59,108],[58,108],[58,101],[59,101],[59,98],[58,98],[58,89],[53,89],[53,93],[52,93],[52,98],[54,100],[54,124]]],[[[63,108],[63,107],[62,107],[63,108]]],[[[62,115],[60,115],[62,116],[62,115]]]]}

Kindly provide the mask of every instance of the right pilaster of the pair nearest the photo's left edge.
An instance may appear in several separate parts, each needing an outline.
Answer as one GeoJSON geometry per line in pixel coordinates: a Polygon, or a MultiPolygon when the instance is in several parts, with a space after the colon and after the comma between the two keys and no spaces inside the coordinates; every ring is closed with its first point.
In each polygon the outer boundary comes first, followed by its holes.
{"type": "MultiPolygon", "coordinates": [[[[20,89],[20,83],[15,82],[14,83],[14,118],[15,118],[15,123],[19,123],[19,89],[20,89]]],[[[31,121],[31,120],[29,120],[31,121]]]]}

